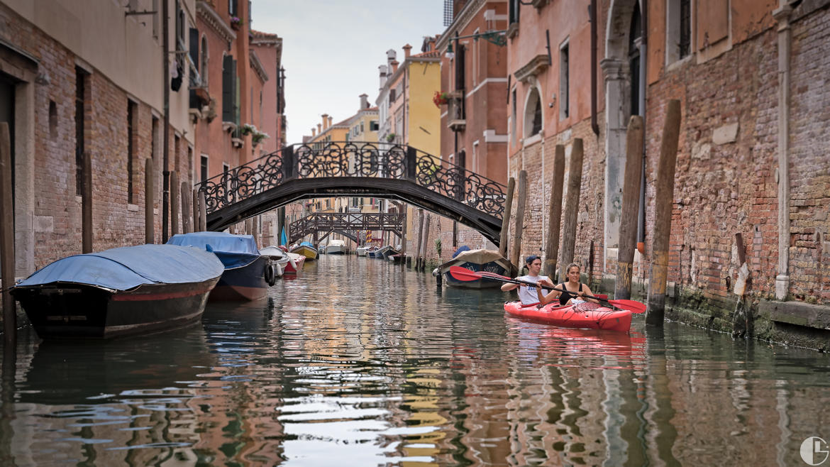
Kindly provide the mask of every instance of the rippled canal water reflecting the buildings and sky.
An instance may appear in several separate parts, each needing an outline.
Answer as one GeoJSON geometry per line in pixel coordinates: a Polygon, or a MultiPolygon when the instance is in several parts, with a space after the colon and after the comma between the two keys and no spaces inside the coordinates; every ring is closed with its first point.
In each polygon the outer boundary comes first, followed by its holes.
{"type": "MultiPolygon", "coordinates": [[[[803,465],[830,359],[669,323],[506,317],[510,294],[322,256],[201,326],[4,354],[17,465],[803,465]]],[[[830,462],[830,461],[828,461],[830,462]]]]}

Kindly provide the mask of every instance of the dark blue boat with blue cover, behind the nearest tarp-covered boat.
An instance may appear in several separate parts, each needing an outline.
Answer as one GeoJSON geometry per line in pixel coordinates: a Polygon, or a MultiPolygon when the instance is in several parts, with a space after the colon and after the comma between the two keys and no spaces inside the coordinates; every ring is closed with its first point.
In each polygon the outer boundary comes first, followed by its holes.
{"type": "Polygon", "coordinates": [[[222,261],[225,272],[210,294],[212,302],[265,297],[276,279],[276,266],[256,248],[253,235],[193,232],[173,235],[167,243],[206,249],[222,261]]]}

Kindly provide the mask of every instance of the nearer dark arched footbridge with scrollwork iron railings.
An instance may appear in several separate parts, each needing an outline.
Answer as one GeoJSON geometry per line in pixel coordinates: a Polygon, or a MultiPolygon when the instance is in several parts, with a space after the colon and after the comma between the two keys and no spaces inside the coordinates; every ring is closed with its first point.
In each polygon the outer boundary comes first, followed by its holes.
{"type": "Polygon", "coordinates": [[[290,145],[197,185],[207,229],[222,230],[299,199],[398,199],[457,220],[499,244],[506,188],[408,145],[290,145]]]}

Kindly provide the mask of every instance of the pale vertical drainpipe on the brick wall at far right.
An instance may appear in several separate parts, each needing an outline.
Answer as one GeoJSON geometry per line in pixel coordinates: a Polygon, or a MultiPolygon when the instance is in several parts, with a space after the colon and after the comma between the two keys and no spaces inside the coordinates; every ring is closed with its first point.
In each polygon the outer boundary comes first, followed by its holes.
{"type": "Polygon", "coordinates": [[[775,297],[784,300],[789,291],[789,51],[793,30],[789,15],[793,7],[787,0],[779,0],[773,17],[779,22],[779,166],[775,181],[779,185],[779,265],[775,276],[775,297]]]}

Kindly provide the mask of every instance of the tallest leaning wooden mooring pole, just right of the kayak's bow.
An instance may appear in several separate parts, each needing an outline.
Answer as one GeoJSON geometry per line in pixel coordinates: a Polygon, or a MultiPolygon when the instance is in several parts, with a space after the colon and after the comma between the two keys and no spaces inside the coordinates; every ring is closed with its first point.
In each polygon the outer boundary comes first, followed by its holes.
{"type": "Polygon", "coordinates": [[[666,312],[666,280],[669,265],[671,204],[674,201],[674,175],[677,144],[680,139],[680,101],[672,99],[666,106],[666,122],[657,165],[657,191],[654,194],[654,239],[652,268],[648,275],[646,324],[662,326],[666,312]]]}

